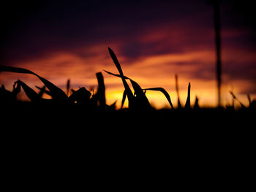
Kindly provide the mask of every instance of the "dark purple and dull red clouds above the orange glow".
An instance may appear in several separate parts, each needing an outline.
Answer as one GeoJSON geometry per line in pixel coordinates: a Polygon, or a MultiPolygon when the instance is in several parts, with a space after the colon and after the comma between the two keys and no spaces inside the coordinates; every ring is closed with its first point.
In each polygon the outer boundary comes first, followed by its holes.
{"type": "MultiPolygon", "coordinates": [[[[3,7],[7,14],[1,13],[2,64],[59,52],[86,58],[99,53],[84,51],[97,45],[106,45],[101,52],[106,54],[112,47],[126,58],[126,64],[150,55],[214,50],[213,8],[204,0],[12,1],[3,7]]],[[[223,37],[223,50],[256,50],[251,1],[223,0],[221,16],[223,31],[238,31],[223,37]]],[[[225,73],[232,79],[255,80],[253,61],[246,67],[241,62],[226,64],[225,73]]],[[[214,78],[214,66],[198,63],[195,67],[191,77],[214,78]]]]}

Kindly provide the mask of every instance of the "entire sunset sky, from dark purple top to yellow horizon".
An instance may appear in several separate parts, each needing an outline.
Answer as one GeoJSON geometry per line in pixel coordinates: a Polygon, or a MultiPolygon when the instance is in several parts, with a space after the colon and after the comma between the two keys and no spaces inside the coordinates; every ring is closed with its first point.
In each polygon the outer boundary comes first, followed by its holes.
{"type": "MultiPolygon", "coordinates": [[[[124,74],[142,88],[165,88],[177,104],[175,74],[181,102],[191,82],[203,106],[217,105],[213,6],[206,0],[177,1],[12,1],[1,5],[2,65],[30,69],[65,89],[97,88],[96,73],[105,77],[108,104],[121,103],[121,80],[108,47],[124,74]]],[[[245,105],[256,97],[256,21],[252,1],[221,1],[222,104],[229,91],[245,105]]],[[[29,74],[2,72],[0,85],[12,89],[16,80],[31,88],[42,85],[29,74]]],[[[161,93],[147,91],[155,107],[167,106],[161,93]]],[[[23,98],[23,96],[20,96],[23,98]]]]}

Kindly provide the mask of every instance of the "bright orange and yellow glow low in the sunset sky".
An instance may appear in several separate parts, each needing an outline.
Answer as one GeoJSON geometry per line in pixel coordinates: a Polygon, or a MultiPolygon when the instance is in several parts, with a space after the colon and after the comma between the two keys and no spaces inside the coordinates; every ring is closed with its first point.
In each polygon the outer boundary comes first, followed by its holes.
{"type": "MultiPolygon", "coordinates": [[[[105,50],[102,47],[103,46],[93,47],[91,50],[86,50],[87,52],[93,52],[93,56],[88,55],[86,57],[80,57],[79,55],[71,53],[58,53],[56,55],[48,55],[48,57],[37,61],[20,62],[20,64],[14,64],[13,66],[30,69],[58,85],[64,91],[68,79],[71,80],[71,88],[77,89],[84,86],[88,90],[90,90],[90,88],[94,88],[94,90],[96,90],[97,78],[95,73],[102,72],[105,77],[107,103],[113,104],[114,101],[117,101],[117,107],[120,107],[124,86],[120,78],[113,77],[102,71],[102,69],[105,69],[109,72],[118,73],[110,56],[106,51],[102,51],[105,50]]],[[[246,59],[244,61],[256,60],[255,53],[245,53],[241,51],[236,53],[237,55],[235,54],[234,56],[231,52],[228,52],[224,56],[224,61],[241,59],[241,54],[246,54],[246,59]]],[[[208,80],[203,80],[195,75],[193,76],[193,74],[197,73],[198,70],[201,70],[200,67],[209,66],[211,69],[215,69],[214,51],[201,50],[179,54],[149,55],[147,57],[144,56],[138,58],[138,60],[134,61],[132,64],[129,64],[127,58],[124,56],[118,54],[117,56],[124,71],[124,75],[138,82],[141,88],[165,88],[165,90],[170,94],[170,98],[175,107],[177,105],[174,78],[175,74],[178,74],[179,77],[178,85],[182,104],[185,104],[186,102],[187,85],[191,82],[192,104],[195,102],[195,96],[197,96],[199,98],[200,106],[216,107],[217,85],[215,82],[214,72],[210,69],[208,71],[204,71],[206,73],[204,75],[208,77],[208,80]],[[183,62],[184,65],[179,65],[179,62],[183,62]],[[196,65],[187,64],[187,62],[192,62],[196,65]]],[[[203,71],[201,73],[203,73],[203,71]]],[[[35,85],[42,86],[42,82],[31,74],[13,74],[7,72],[2,72],[0,74],[0,84],[4,84],[9,90],[12,90],[13,82],[18,79],[26,82],[26,84],[31,88],[34,88],[35,85]]],[[[232,90],[232,86],[234,87],[233,92],[235,94],[242,92],[246,88],[254,86],[246,80],[236,80],[231,83],[225,75],[224,79],[227,80],[222,86],[223,105],[230,104],[232,101],[232,97],[229,93],[229,91],[232,90]]],[[[36,88],[34,88],[34,90],[38,91],[36,88]]],[[[246,95],[236,95],[245,105],[248,104],[246,95]]],[[[161,92],[147,91],[146,96],[151,104],[154,105],[154,107],[157,107],[157,109],[161,107],[170,107],[167,99],[161,92]]],[[[252,95],[252,99],[254,96],[255,95],[252,95]]],[[[24,99],[26,97],[21,95],[20,98],[24,99]]],[[[127,104],[128,102],[126,99],[124,107],[127,107],[127,104]]]]}

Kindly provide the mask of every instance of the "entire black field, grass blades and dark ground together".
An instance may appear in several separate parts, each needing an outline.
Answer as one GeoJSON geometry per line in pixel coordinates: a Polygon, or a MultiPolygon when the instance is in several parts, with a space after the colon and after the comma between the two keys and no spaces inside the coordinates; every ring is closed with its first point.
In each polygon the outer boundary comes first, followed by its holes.
{"type": "MultiPolygon", "coordinates": [[[[251,169],[254,159],[255,100],[248,96],[249,107],[245,107],[234,93],[230,93],[233,101],[240,103],[239,109],[235,109],[234,104],[200,107],[197,99],[191,104],[189,83],[186,104],[182,106],[178,98],[178,106],[174,107],[164,88],[142,89],[138,82],[126,77],[115,53],[110,49],[109,52],[119,74],[106,73],[122,81],[121,103],[123,105],[128,99],[128,108],[117,109],[115,103],[106,104],[102,73],[97,73],[95,93],[86,88],[70,93],[69,81],[64,92],[28,69],[0,66],[3,72],[35,75],[45,85],[38,87],[38,93],[20,80],[14,82],[12,91],[1,86],[4,164],[22,173],[28,172],[27,167],[34,169],[39,165],[40,174],[48,175],[55,170],[61,174],[61,180],[63,175],[69,178],[66,174],[70,166],[90,175],[103,171],[103,177],[108,178],[113,168],[117,173],[121,168],[121,172],[132,178],[137,176],[135,172],[143,172],[146,180],[156,175],[157,179],[166,180],[162,172],[171,172],[175,177],[183,177],[186,173],[189,188],[198,180],[200,186],[202,183],[216,186],[209,182],[209,178],[216,176],[227,183],[226,174],[219,172],[228,172],[230,180],[239,177],[238,183],[241,179],[252,180],[244,169],[251,169]],[[134,93],[127,81],[131,82],[134,93]],[[30,101],[18,101],[21,88],[30,101]],[[160,91],[170,107],[161,110],[151,107],[145,94],[147,90],[160,91]],[[43,94],[52,99],[43,99],[43,94]],[[200,177],[196,177],[197,174],[200,177]]],[[[178,94],[178,83],[176,91],[178,94]]],[[[7,170],[7,175],[12,169],[7,170]]],[[[74,175],[80,177],[76,172],[74,175]]],[[[140,174],[137,179],[141,180],[140,174]]],[[[52,180],[56,180],[55,174],[52,180]]],[[[183,179],[178,182],[184,185],[183,179]]],[[[156,188],[159,190],[159,186],[156,188]]],[[[244,185],[241,188],[244,189],[244,185]]]]}

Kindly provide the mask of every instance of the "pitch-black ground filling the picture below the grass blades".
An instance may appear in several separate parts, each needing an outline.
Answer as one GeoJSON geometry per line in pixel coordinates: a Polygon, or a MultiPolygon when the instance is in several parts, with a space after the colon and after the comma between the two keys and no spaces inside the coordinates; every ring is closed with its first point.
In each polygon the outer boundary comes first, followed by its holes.
{"type": "Polygon", "coordinates": [[[86,112],[20,103],[1,112],[9,188],[208,191],[253,183],[249,110],[86,112]]]}

